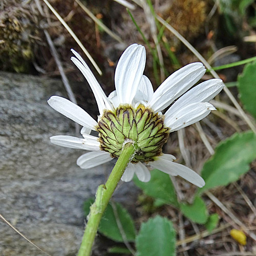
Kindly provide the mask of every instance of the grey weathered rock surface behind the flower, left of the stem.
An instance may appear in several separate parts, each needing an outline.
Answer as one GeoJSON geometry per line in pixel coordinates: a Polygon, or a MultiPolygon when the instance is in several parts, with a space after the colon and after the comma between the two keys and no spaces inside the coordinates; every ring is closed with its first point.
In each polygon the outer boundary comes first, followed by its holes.
{"type": "MultiPolygon", "coordinates": [[[[76,159],[84,152],[50,143],[75,135],[74,123],[47,104],[51,95],[66,97],[61,81],[0,72],[0,214],[49,254],[71,256],[83,234],[83,202],[113,163],[83,170],[76,159]]],[[[132,205],[135,190],[119,186],[116,201],[132,205]]],[[[4,222],[0,230],[1,256],[45,255],[4,222]]]]}

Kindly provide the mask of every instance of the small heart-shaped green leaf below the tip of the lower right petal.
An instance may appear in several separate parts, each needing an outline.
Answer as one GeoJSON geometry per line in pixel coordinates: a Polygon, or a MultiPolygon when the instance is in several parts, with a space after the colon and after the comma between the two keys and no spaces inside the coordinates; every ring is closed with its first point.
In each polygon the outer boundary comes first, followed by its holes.
{"type": "Polygon", "coordinates": [[[193,222],[204,224],[208,219],[208,211],[201,197],[196,197],[193,204],[181,204],[180,209],[193,222]]]}

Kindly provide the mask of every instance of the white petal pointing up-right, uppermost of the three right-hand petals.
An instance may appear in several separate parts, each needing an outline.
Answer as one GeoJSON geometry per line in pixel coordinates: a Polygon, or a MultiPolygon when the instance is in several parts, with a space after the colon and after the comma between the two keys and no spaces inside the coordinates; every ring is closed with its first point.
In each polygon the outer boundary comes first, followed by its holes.
{"type": "Polygon", "coordinates": [[[155,91],[147,106],[155,112],[164,110],[170,103],[193,86],[205,73],[202,63],[186,65],[170,75],[155,91]]]}

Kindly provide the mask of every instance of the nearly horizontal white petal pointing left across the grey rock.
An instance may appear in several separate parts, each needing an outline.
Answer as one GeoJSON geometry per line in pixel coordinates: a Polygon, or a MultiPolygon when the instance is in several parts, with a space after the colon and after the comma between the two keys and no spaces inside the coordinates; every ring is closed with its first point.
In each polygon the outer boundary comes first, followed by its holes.
{"type": "Polygon", "coordinates": [[[91,135],[87,136],[87,139],[81,139],[72,136],[58,135],[52,136],[50,140],[53,144],[59,146],[78,148],[80,150],[100,151],[100,143],[97,140],[95,140],[95,137],[91,135]],[[90,138],[89,136],[92,138],[90,138]]]}

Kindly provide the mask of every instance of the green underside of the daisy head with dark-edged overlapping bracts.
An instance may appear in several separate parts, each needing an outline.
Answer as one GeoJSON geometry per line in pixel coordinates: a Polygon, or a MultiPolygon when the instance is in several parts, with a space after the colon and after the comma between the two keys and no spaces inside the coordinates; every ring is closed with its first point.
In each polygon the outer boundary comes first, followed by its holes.
{"type": "Polygon", "coordinates": [[[168,127],[163,116],[152,109],[139,105],[119,105],[114,111],[104,111],[96,127],[99,132],[100,148],[112,157],[119,157],[123,145],[133,141],[136,148],[132,162],[154,161],[162,152],[168,138],[168,127]]]}

